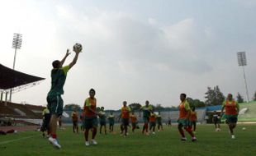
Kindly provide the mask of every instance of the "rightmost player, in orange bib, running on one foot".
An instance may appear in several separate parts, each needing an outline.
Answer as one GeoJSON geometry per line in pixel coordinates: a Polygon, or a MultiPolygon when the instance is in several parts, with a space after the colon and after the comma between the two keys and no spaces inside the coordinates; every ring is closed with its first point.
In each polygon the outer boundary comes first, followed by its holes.
{"type": "Polygon", "coordinates": [[[239,114],[239,104],[233,99],[232,94],[228,94],[227,99],[222,104],[221,114],[223,114],[225,108],[225,118],[227,120],[231,138],[235,139],[234,129],[237,122],[237,116],[239,114]]]}

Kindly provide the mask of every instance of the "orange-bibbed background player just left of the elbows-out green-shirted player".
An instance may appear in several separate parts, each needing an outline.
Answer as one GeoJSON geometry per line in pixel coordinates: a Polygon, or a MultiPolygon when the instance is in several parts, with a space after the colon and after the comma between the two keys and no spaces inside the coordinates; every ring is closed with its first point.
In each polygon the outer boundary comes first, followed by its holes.
{"type": "Polygon", "coordinates": [[[121,135],[125,131],[125,136],[127,135],[127,129],[129,126],[129,118],[130,118],[130,107],[127,106],[127,102],[123,102],[123,107],[121,108],[121,135]]]}

